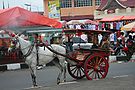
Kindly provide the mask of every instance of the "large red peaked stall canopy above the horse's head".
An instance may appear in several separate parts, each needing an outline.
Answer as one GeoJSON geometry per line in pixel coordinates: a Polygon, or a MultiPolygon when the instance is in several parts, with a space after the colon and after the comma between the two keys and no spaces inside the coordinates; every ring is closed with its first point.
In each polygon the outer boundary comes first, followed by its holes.
{"type": "Polygon", "coordinates": [[[0,10],[0,28],[25,26],[49,26],[61,28],[62,24],[55,19],[50,19],[20,7],[0,10]]]}

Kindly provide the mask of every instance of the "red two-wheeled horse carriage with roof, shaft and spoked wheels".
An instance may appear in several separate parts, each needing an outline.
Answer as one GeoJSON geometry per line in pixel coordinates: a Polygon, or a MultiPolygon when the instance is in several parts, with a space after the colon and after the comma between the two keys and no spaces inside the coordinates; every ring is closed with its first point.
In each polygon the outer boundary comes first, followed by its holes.
{"type": "MultiPolygon", "coordinates": [[[[66,29],[65,34],[77,34],[85,33],[88,38],[93,42],[93,46],[98,43],[98,34],[109,35],[110,31],[101,30],[81,30],[81,29],[66,29]]],[[[93,47],[92,46],[92,47],[93,47]]],[[[51,50],[51,49],[50,49],[51,50]]],[[[60,54],[51,50],[56,54],[60,54]]],[[[67,63],[67,69],[69,74],[75,79],[82,79],[86,76],[88,80],[105,78],[109,69],[109,55],[110,50],[100,47],[96,48],[78,48],[75,49],[72,54],[62,55],[67,59],[73,61],[73,63],[67,63]]]]}

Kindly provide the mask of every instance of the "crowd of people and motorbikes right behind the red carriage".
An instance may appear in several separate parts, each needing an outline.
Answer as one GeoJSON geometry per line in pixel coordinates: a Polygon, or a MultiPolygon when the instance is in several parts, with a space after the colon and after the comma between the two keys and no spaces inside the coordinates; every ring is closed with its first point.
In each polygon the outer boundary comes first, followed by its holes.
{"type": "MultiPolygon", "coordinates": [[[[133,49],[133,45],[135,43],[135,33],[134,32],[112,32],[110,34],[110,47],[115,51],[116,48],[128,48],[128,50],[133,49]],[[132,48],[131,48],[132,47],[132,48]]],[[[128,52],[129,53],[129,52],[128,52]]],[[[116,54],[116,53],[115,53],[116,54]]]]}

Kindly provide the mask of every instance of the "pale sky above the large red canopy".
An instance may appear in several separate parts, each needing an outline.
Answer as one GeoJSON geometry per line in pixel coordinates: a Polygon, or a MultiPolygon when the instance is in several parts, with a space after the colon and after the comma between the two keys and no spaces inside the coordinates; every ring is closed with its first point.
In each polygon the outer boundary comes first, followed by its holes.
{"type": "Polygon", "coordinates": [[[25,4],[31,5],[31,11],[43,11],[43,0],[0,0],[0,9],[3,9],[3,2],[5,8],[19,6],[24,9],[30,10],[30,6],[26,6],[25,4]]]}

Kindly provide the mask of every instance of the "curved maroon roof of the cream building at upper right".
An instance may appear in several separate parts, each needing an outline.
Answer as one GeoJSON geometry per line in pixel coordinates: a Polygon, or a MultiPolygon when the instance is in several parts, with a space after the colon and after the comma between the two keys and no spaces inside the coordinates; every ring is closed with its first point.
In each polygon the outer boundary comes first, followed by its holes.
{"type": "Polygon", "coordinates": [[[102,0],[100,6],[97,10],[104,10],[108,5],[112,4],[112,2],[116,2],[121,7],[135,7],[135,0],[102,0]]]}

